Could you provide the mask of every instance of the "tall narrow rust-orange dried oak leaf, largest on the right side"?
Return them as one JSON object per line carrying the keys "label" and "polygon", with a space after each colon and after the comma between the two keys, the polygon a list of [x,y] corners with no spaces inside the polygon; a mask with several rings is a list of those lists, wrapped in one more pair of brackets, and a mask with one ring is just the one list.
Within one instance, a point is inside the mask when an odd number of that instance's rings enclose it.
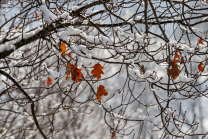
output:
{"label": "tall narrow rust-orange dried oak leaf, largest on the right side", "polygon": [[[179,76],[179,73],[181,72],[179,70],[179,66],[177,65],[178,61],[176,58],[180,59],[180,56],[178,55],[178,51],[175,51],[175,56],[172,62],[172,69],[170,71],[171,78],[176,79]],[[167,70],[167,75],[169,75],[169,70]]]}

